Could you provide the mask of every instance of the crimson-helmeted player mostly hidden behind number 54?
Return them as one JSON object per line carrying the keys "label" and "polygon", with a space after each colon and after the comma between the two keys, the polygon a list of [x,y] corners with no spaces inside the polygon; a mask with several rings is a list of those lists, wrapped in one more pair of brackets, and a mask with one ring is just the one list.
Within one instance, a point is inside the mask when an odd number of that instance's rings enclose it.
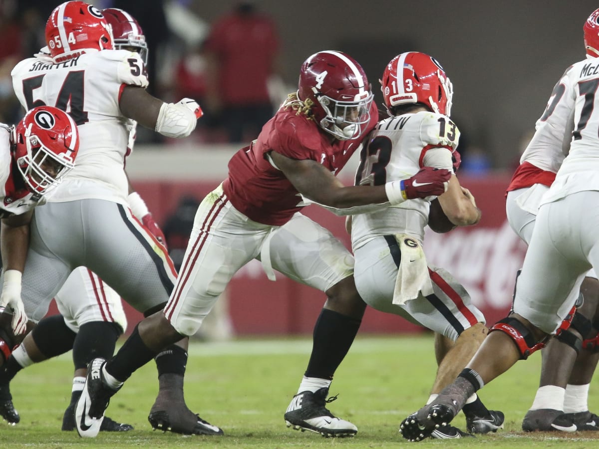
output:
{"label": "crimson-helmeted player mostly hidden behind number 54", "polygon": [[[102,14],[111,26],[114,47],[117,50],[136,51],[145,62],[146,39],[137,20],[126,11],[116,8],[102,10]],[[132,120],[130,127],[127,154],[131,153],[135,142],[136,126]],[[164,235],[145,202],[133,192],[131,186],[129,191],[128,203],[132,213],[164,244]],[[20,421],[12,401],[10,381],[21,369],[72,349],[75,372],[71,402],[63,415],[62,430],[75,430],[75,404],[83,390],[87,364],[94,356],[111,356],[117,339],[127,328],[120,296],[84,266],[72,271],[56,293],[55,301],[59,315],[40,320],[0,368],[0,415],[8,423]],[[104,431],[123,432],[131,429],[131,425],[118,423],[108,417],[102,421],[101,430]]]}

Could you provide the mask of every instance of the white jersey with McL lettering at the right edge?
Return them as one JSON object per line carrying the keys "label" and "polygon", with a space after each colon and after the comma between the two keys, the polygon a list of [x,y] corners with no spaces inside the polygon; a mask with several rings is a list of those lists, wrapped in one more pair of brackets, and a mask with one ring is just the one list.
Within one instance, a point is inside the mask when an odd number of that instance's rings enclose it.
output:
{"label": "white jersey with McL lettering at the right edge", "polygon": [[565,138],[570,139],[573,129],[570,151],[541,204],[572,193],[599,190],[599,58],[577,62],[560,83],[563,93],[559,104],[569,111]]}

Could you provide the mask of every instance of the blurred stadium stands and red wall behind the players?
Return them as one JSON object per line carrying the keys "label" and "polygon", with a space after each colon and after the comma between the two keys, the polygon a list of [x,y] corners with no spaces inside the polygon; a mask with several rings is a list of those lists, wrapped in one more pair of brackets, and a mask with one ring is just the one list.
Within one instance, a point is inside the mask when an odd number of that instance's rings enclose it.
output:
{"label": "blurred stadium stands and red wall behind the players", "polygon": [[[0,120],[11,122],[20,110],[10,85],[10,69],[39,48],[45,20],[55,0],[0,0]],[[365,68],[373,91],[395,54],[419,50],[436,57],[454,87],[452,118],[462,131],[461,183],[476,196],[483,219],[476,227],[446,235],[429,232],[426,251],[432,265],[458,278],[488,322],[509,309],[516,269],[525,247],[510,229],[504,189],[553,83],[582,59],[582,25],[596,2],[506,0],[480,2],[398,2],[365,4],[319,0],[98,0],[98,7],[122,7],[137,17],[149,40],[154,63],[152,91],[174,101],[205,79],[202,44],[211,26],[240,3],[251,3],[276,25],[279,53],[271,78],[271,101],[279,104],[295,90],[301,62],[315,51],[346,51]],[[159,26],[157,24],[162,24]],[[187,77],[181,77],[186,68]],[[186,85],[193,84],[194,85]],[[203,84],[202,84],[203,86]],[[185,89],[184,89],[185,88]],[[199,89],[199,90],[198,90]],[[200,99],[201,102],[201,99]],[[380,104],[380,103],[379,103]],[[207,104],[207,110],[210,107]],[[210,115],[210,114],[209,114]],[[218,114],[214,114],[217,116]],[[213,117],[214,118],[214,117]],[[203,120],[203,119],[202,119]],[[226,176],[226,163],[252,136],[229,143],[228,117],[200,125],[190,138],[158,139],[140,130],[127,162],[134,186],[164,226],[184,196],[201,200]],[[246,138],[247,137],[247,138]],[[470,163],[468,162],[470,160]],[[483,162],[479,163],[479,160]],[[341,172],[352,183],[355,161]],[[343,220],[312,206],[306,213],[329,227],[346,244]],[[325,297],[279,275],[268,281],[259,262],[250,263],[226,292],[235,335],[307,334]],[[128,308],[129,322],[138,315]],[[131,326],[130,326],[131,327]],[[419,332],[395,316],[369,310],[362,332]]]}

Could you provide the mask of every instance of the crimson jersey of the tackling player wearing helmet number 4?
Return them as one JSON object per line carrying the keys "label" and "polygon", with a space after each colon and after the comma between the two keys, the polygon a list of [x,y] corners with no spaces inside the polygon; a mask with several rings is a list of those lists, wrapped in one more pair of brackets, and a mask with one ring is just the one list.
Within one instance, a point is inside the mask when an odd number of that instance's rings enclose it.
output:
{"label": "crimson jersey of the tackling player wearing helmet number 4", "polygon": [[314,120],[298,115],[291,107],[281,107],[264,125],[258,139],[231,158],[223,190],[231,204],[249,219],[264,225],[284,225],[304,205],[293,184],[268,161],[268,152],[276,151],[291,159],[316,160],[337,175],[378,120],[373,102],[364,132],[354,139],[331,144],[330,135]]}

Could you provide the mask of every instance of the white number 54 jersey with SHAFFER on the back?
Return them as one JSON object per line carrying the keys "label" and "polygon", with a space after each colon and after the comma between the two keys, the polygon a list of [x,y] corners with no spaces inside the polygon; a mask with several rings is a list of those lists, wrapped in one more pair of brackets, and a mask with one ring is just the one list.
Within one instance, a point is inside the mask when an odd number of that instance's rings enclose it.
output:
{"label": "white number 54 jersey with SHAFFER on the back", "polygon": [[96,198],[126,204],[123,163],[131,120],[120,112],[119,98],[126,85],[147,86],[139,54],[102,50],[58,64],[38,56],[17,64],[11,75],[23,107],[56,106],[78,125],[77,165],[48,200]]}

